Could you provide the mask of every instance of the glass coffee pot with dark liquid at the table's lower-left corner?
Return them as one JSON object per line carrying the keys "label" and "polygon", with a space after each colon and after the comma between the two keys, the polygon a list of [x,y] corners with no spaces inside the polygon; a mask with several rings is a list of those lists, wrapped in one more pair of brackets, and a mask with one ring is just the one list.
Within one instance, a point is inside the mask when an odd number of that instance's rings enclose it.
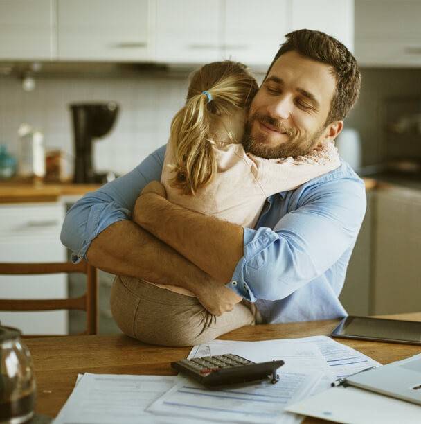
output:
{"label": "glass coffee pot with dark liquid at the table's lower-left corner", "polygon": [[0,326],[0,422],[28,421],[34,414],[35,392],[32,359],[20,331]]}

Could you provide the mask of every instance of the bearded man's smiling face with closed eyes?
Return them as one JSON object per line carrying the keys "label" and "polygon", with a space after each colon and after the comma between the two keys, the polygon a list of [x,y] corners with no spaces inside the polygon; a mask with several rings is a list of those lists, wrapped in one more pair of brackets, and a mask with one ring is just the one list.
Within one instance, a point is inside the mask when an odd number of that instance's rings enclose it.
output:
{"label": "bearded man's smiling face with closed eyes", "polygon": [[296,51],[281,55],[251,103],[245,150],[265,158],[310,152],[333,134],[324,124],[335,89],[328,64]]}

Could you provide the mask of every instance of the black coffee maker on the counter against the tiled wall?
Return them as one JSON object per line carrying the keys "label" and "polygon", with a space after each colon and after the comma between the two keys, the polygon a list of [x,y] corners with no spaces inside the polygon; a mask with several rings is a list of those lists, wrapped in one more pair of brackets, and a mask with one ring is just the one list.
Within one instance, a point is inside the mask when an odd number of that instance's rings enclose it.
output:
{"label": "black coffee maker on the counter against the tiled wall", "polygon": [[107,103],[74,103],[69,105],[73,117],[75,139],[75,176],[76,184],[104,183],[107,174],[98,174],[92,165],[92,144],[109,133],[118,115],[118,105]]}

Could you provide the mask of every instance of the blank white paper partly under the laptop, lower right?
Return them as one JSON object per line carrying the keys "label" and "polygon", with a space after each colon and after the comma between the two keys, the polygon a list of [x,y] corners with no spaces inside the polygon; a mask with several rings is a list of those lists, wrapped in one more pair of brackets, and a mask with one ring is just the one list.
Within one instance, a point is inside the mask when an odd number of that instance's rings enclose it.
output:
{"label": "blank white paper partly under the laptop, lower right", "polygon": [[421,423],[421,406],[356,387],[333,387],[285,409],[339,423]]}

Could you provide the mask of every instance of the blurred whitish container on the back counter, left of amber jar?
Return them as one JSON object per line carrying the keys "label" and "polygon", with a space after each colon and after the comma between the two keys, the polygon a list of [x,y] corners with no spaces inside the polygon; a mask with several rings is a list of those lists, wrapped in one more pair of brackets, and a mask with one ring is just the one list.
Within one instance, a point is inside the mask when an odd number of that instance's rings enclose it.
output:
{"label": "blurred whitish container on the back counter, left of amber jar", "polygon": [[22,124],[19,135],[18,175],[39,177],[45,175],[44,134],[27,124]]}

